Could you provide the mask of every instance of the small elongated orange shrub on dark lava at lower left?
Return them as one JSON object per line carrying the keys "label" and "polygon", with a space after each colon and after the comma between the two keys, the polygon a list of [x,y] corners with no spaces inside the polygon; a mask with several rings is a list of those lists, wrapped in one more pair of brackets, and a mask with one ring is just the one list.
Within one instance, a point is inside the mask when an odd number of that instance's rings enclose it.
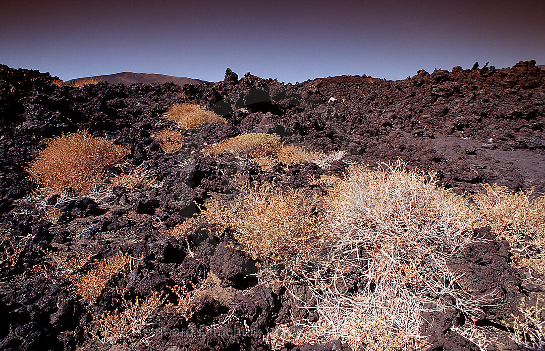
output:
{"label": "small elongated orange shrub on dark lava at lower left", "polygon": [[129,259],[127,255],[119,255],[100,262],[98,267],[86,274],[73,274],[71,280],[76,286],[76,294],[89,302],[96,301],[106,283],[125,267]]}

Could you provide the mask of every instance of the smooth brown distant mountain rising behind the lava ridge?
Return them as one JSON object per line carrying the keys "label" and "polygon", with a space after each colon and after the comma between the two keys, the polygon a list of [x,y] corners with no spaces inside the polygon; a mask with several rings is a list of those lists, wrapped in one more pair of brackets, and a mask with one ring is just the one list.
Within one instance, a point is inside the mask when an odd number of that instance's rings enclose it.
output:
{"label": "smooth brown distant mountain rising behind the lava ridge", "polygon": [[96,78],[103,81],[106,81],[110,84],[123,83],[125,85],[135,84],[135,83],[144,83],[144,84],[155,84],[155,83],[168,83],[173,82],[174,84],[183,85],[183,84],[201,84],[205,81],[200,79],[192,79],[187,77],[175,77],[167,76],[164,74],[153,74],[153,73],[134,73],[134,72],[120,72],[116,74],[108,74],[104,76],[93,76],[93,77],[84,77],[84,78],[74,78],[66,83],[72,83],[75,81],[86,80],[89,78]]}

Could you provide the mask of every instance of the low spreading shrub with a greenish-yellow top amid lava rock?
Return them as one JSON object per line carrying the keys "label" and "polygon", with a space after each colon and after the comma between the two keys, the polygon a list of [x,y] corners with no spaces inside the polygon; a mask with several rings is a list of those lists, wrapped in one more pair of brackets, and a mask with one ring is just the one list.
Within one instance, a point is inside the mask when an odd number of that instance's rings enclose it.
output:
{"label": "low spreading shrub with a greenish-yellow top amid lava rock", "polygon": [[293,165],[323,156],[321,153],[308,152],[301,147],[284,145],[280,141],[280,136],[265,133],[241,134],[228,138],[205,148],[202,153],[214,156],[232,153],[241,158],[254,160],[264,170],[270,170],[279,162]]}

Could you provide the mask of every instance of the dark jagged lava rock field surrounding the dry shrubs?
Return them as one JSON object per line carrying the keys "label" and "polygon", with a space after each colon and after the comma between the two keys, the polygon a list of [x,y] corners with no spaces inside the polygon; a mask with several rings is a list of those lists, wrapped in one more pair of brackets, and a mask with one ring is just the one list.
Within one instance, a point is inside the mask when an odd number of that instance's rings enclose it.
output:
{"label": "dark jagged lava rock field surrounding the dry shrubs", "polygon": [[[181,130],[181,149],[165,153],[154,135],[177,128],[164,116],[169,106],[184,102],[213,110],[227,123]],[[9,233],[6,251],[22,250],[0,268],[0,349],[268,350],[264,337],[300,313],[296,301],[280,287],[258,284],[256,261],[222,238],[199,229],[186,241],[169,229],[196,215],[208,199],[231,198],[237,181],[274,179],[305,189],[309,175],[341,175],[356,162],[373,168],[401,159],[409,168],[437,171],[438,183],[460,194],[482,191],[487,183],[544,193],[544,124],[545,71],[533,61],[505,69],[421,70],[401,81],[338,76],[282,84],[250,73],[239,78],[228,69],[225,80],[198,85],[81,88],[58,87],[49,74],[1,65],[0,230]],[[123,170],[112,172],[140,172],[150,181],[93,196],[35,199],[37,186],[26,167],[48,138],[78,130],[128,147]],[[347,155],[329,169],[303,162],[263,171],[229,154],[201,153],[250,132]],[[52,203],[59,217],[48,221]],[[125,271],[114,274],[94,302],[75,292],[73,280],[44,274],[52,257],[89,253],[99,262],[119,252],[129,257]],[[545,291],[509,259],[508,244],[489,237],[452,262],[476,291],[502,292],[505,303],[487,308],[478,323],[506,332],[511,329],[502,321],[517,313],[521,296]],[[123,308],[123,299],[167,292],[175,304],[180,296],[171,287],[191,285],[207,293],[191,306],[189,319],[161,307],[145,328],[114,346],[96,334],[97,316]],[[452,330],[462,317],[445,312],[433,318],[429,349],[479,349]],[[349,348],[332,340],[284,349]]]}

